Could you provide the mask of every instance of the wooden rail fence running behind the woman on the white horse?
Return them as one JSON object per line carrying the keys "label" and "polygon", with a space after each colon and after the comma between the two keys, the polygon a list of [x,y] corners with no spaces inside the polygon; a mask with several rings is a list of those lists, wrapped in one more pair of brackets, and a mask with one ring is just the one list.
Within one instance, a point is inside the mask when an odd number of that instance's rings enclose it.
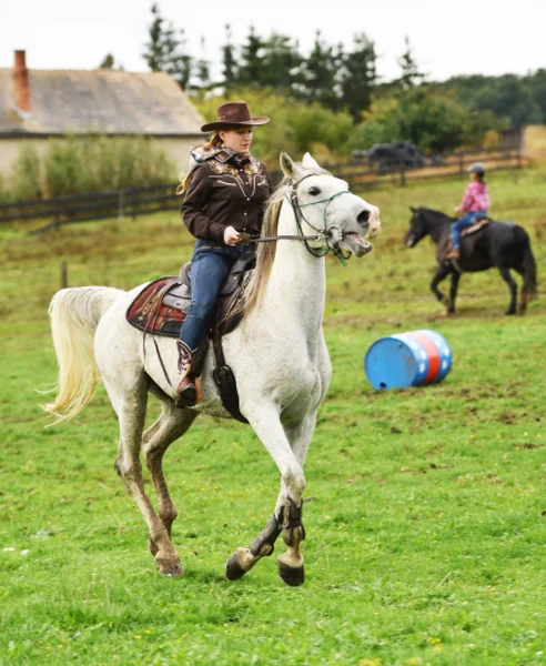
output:
{"label": "wooden rail fence running behind the woman on the white horse", "polygon": [[[325,165],[325,169],[357,190],[384,184],[404,186],[408,182],[423,179],[466,178],[466,169],[475,161],[484,162],[488,172],[501,169],[517,170],[527,163],[517,149],[488,149],[438,155],[419,167],[398,163],[385,169],[361,159]],[[281,172],[272,172],[270,175],[274,184],[282,178]],[[152,188],[130,188],[3,204],[0,205],[0,224],[43,220],[43,225],[30,232],[36,234],[64,224],[111,218],[136,219],[138,215],[178,210],[181,198],[175,195],[176,186],[178,183],[169,183]]]}

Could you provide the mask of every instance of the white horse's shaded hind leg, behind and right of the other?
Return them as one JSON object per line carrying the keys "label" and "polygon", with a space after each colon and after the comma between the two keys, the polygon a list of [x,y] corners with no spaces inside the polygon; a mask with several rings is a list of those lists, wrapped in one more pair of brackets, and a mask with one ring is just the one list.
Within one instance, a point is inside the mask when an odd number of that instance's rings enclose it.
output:
{"label": "white horse's shaded hind leg, behind and right of the other", "polygon": [[[196,416],[196,412],[179,408],[171,400],[164,400],[161,416],[142,437],[144,460],[158,493],[159,516],[170,538],[172,538],[172,524],[176,518],[176,508],[163,474],[163,456],[169,446],[186,432]],[[155,556],[159,548],[151,537],[149,547]]]}

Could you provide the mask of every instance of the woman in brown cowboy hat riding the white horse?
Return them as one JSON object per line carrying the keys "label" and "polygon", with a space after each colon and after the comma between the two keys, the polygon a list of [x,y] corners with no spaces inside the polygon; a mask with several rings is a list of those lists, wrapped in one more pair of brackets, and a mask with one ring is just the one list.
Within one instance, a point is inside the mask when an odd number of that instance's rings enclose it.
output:
{"label": "woman in brown cowboy hat riding the white horse", "polygon": [[[192,302],[178,341],[178,393],[186,405],[198,401],[192,374],[194,354],[208,329],[223,280],[246,246],[241,233],[260,234],[264,204],[271,193],[265,164],[251,155],[252,130],[266,124],[252,118],[244,100],[221,104],[216,121],[204,124],[213,132],[205,145],[191,150],[191,171],[182,219],[196,238],[191,268]],[[180,192],[179,192],[180,193]]]}

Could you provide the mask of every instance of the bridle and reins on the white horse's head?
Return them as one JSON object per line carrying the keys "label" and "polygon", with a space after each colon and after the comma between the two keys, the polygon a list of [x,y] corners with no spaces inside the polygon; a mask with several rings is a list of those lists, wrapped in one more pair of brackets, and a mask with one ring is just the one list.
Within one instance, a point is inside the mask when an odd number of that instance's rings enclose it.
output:
{"label": "bridle and reins on the white horse's head", "polygon": [[[243,241],[240,244],[247,243],[265,243],[270,241],[302,241],[305,245],[305,249],[313,256],[325,256],[328,252],[332,252],[334,256],[336,256],[343,265],[346,265],[346,261],[351,253],[343,253],[343,250],[340,248],[340,240],[342,240],[347,232],[342,232],[337,226],[327,225],[327,210],[331,202],[341,196],[341,194],[351,194],[348,190],[340,190],[340,192],[335,192],[332,196],[327,199],[320,199],[318,201],[312,201],[310,203],[300,203],[297,200],[297,188],[307,178],[312,175],[323,175],[323,173],[306,173],[301,179],[294,181],[290,186],[290,192],[286,194],[286,201],[292,205],[292,210],[294,211],[294,218],[297,228],[297,235],[276,235],[276,236],[266,236],[266,238],[251,238],[247,234],[243,235]],[[302,208],[306,208],[310,205],[316,205],[317,203],[325,203],[324,212],[323,212],[323,229],[317,229],[314,224],[312,224],[303,214]],[[313,231],[316,231],[316,234],[305,235],[303,233],[302,221],[305,222]],[[340,232],[340,240],[335,241],[333,239],[333,230],[336,229]],[[310,241],[326,241],[326,248],[312,248],[309,243]]]}

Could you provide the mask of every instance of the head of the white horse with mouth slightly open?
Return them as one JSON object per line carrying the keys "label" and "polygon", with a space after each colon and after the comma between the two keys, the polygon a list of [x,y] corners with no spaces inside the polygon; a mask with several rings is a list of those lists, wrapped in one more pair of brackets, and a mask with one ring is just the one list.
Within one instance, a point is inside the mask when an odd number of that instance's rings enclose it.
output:
{"label": "head of the white horse with mouth slightly open", "polygon": [[320,233],[314,248],[348,251],[355,256],[367,254],[373,245],[364,236],[380,233],[380,209],[348,190],[345,181],[333,176],[305,153],[296,164],[281,153],[281,169],[292,181],[289,196],[303,233]]}

